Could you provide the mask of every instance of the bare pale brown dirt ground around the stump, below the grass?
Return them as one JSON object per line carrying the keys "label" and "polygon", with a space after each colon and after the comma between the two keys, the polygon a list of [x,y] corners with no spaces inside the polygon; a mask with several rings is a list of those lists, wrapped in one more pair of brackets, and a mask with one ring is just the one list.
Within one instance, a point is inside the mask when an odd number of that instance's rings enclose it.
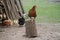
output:
{"label": "bare pale brown dirt ground around the stump, below the grass", "polygon": [[38,37],[25,37],[25,27],[19,25],[0,28],[0,40],[60,40],[60,23],[37,23]]}

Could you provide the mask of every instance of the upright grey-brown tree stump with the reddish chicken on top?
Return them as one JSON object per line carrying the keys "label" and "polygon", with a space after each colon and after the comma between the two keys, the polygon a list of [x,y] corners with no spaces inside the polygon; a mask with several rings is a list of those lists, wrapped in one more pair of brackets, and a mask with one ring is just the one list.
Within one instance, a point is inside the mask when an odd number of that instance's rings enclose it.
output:
{"label": "upright grey-brown tree stump with the reddish chicken on top", "polygon": [[26,36],[27,37],[36,37],[37,36],[35,19],[27,20],[25,22],[25,27],[26,27]]}

